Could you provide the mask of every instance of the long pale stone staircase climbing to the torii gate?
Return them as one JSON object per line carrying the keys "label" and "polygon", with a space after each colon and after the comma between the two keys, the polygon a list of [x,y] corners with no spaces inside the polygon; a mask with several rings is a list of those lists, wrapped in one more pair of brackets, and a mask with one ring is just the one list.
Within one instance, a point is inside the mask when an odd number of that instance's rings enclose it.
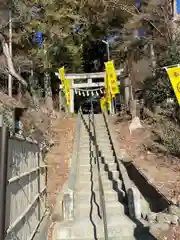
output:
{"label": "long pale stone staircase climbing to the torii gate", "polygon": [[[100,174],[104,188],[108,239],[155,239],[127,213],[127,199],[103,115],[95,115]],[[74,194],[74,218],[56,224],[54,240],[105,239],[100,204],[95,146],[89,133],[89,116],[81,120]],[[93,129],[91,127],[91,132]],[[141,224],[140,224],[141,225]]]}

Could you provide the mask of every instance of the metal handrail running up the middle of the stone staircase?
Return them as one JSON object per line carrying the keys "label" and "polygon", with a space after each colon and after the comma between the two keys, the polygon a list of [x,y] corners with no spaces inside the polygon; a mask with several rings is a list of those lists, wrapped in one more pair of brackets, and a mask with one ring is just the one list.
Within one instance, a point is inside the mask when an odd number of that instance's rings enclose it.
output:
{"label": "metal handrail running up the middle of the stone staircase", "polygon": [[105,204],[105,196],[104,196],[104,188],[101,178],[101,170],[100,170],[100,163],[99,163],[99,149],[97,145],[97,137],[96,137],[96,128],[94,124],[94,111],[93,111],[93,104],[91,101],[91,113],[92,113],[92,126],[93,126],[93,135],[94,135],[94,146],[95,146],[95,158],[98,168],[98,183],[99,183],[99,196],[100,196],[100,205],[103,217],[103,226],[104,226],[104,239],[108,240],[108,227],[107,227],[107,217],[106,217],[106,204]]}

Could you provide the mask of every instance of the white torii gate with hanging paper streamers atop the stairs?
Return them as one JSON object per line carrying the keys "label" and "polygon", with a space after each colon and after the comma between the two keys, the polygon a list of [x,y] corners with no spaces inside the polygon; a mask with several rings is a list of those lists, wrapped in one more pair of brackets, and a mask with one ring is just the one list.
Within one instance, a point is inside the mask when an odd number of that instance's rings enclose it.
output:
{"label": "white torii gate with hanging paper streamers atop the stairs", "polygon": [[[116,70],[116,75],[120,76],[122,72],[123,72],[123,69]],[[58,72],[56,72],[55,75],[60,78]],[[71,83],[70,83],[70,112],[71,113],[74,113],[75,89],[103,87],[104,77],[105,77],[105,72],[65,74],[65,78],[71,80]],[[93,79],[98,79],[98,78],[103,79],[103,81],[93,82]],[[120,81],[118,81],[118,85],[120,85]],[[62,85],[60,85],[60,89],[62,89]]]}

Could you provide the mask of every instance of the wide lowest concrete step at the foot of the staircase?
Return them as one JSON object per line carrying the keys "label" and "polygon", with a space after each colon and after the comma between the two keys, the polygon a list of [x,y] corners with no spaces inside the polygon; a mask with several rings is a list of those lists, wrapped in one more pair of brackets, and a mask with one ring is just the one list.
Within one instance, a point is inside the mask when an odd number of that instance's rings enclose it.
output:
{"label": "wide lowest concrete step at the foot of the staircase", "polygon": [[[125,216],[111,216],[107,219],[108,237],[118,237],[119,240],[133,238],[135,224]],[[99,220],[96,226],[96,237],[94,227],[89,218],[76,219],[69,223],[57,223],[54,228],[54,239],[104,239],[103,221]]]}

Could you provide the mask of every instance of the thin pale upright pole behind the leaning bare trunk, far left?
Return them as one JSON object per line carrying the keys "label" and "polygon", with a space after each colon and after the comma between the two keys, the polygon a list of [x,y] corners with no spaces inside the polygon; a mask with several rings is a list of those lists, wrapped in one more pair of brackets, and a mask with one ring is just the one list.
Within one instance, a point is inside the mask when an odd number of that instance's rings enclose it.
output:
{"label": "thin pale upright pole behind the leaning bare trunk, far left", "polygon": [[[9,7],[9,54],[12,58],[12,9]],[[12,97],[12,76],[8,75],[8,95]]]}

